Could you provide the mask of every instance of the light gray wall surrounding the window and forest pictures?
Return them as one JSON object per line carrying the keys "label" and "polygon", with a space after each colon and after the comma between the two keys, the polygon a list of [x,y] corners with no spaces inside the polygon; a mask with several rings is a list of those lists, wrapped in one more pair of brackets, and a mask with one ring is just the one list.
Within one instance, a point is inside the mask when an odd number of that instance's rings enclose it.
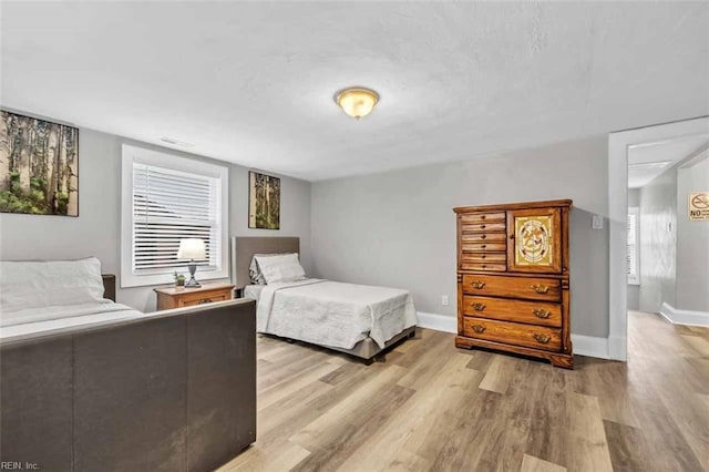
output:
{"label": "light gray wall surrounding the window and forest pictures", "polygon": [[[79,217],[0,214],[0,258],[70,259],[96,256],[103,271],[120,276],[121,144],[132,143],[92,130],[79,134]],[[280,230],[248,229],[248,168],[172,150],[176,155],[229,167],[230,236],[299,236],[306,270],[312,269],[310,183],[281,177]],[[238,152],[238,150],[235,150]],[[226,247],[225,247],[226,249]],[[119,281],[120,286],[120,281]],[[152,287],[117,290],[117,301],[155,309]]]}

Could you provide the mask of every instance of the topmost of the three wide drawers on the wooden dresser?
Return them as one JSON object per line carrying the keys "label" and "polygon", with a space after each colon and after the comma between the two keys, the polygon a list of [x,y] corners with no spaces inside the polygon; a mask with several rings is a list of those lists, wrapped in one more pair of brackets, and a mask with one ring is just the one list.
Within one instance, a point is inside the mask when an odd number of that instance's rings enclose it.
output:
{"label": "topmost of the three wide drawers on the wooden dresser", "polygon": [[559,301],[562,281],[542,277],[463,275],[463,294]]}

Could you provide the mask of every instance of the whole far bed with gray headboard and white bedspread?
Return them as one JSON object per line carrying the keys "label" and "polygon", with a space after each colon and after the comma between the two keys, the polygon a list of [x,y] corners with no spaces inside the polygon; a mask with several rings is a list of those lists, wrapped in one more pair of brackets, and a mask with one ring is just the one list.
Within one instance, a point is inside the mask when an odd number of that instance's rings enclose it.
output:
{"label": "whole far bed with gray headboard and white bedspread", "polygon": [[[235,237],[233,278],[257,300],[257,331],[346,352],[371,362],[415,336],[417,311],[408,290],[299,277],[253,283],[254,258],[299,254],[297,237]],[[261,260],[261,264],[264,259]],[[249,269],[251,269],[249,274]]]}

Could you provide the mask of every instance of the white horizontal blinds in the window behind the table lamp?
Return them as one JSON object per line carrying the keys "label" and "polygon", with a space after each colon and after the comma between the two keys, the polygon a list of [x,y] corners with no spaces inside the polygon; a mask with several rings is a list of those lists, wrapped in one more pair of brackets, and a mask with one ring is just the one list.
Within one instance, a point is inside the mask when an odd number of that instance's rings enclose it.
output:
{"label": "white horizontal blinds in the window behind the table lamp", "polygon": [[218,179],[147,164],[133,164],[133,271],[162,274],[182,268],[179,240],[205,242],[198,265],[217,269],[222,242]]}

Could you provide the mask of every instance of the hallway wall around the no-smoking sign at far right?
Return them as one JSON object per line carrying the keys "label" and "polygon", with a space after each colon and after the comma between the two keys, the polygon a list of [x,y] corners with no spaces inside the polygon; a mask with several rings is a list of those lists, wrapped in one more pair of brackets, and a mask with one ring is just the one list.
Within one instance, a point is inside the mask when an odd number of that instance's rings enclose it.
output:
{"label": "hallway wall around the no-smoking sign at far right", "polygon": [[709,158],[677,171],[675,308],[709,312],[709,222],[689,220],[688,196],[709,192]]}

